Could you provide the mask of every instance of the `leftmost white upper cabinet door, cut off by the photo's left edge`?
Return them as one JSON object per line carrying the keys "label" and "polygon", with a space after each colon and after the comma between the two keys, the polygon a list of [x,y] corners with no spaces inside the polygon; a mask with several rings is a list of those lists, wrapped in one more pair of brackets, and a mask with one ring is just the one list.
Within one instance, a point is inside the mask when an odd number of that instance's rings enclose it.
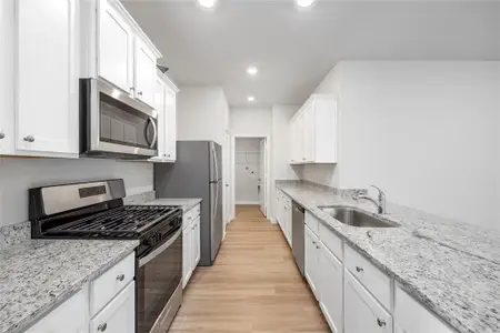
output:
{"label": "leftmost white upper cabinet door, cut off by the photo's left edge", "polygon": [[0,1],[0,154],[14,151],[14,0]]}

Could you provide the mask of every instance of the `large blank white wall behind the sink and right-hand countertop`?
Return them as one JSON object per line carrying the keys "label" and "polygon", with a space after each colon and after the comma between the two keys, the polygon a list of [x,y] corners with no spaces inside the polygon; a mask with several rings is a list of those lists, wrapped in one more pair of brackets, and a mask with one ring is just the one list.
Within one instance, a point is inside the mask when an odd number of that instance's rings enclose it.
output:
{"label": "large blank white wall behind the sink and right-hand countertop", "polygon": [[302,176],[500,228],[499,91],[500,62],[341,62],[317,89],[338,98],[339,164]]}

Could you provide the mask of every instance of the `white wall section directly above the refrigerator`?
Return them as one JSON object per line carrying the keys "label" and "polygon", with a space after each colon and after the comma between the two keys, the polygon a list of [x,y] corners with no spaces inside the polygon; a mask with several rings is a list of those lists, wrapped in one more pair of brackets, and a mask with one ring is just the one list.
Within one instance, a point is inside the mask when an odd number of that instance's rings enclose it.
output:
{"label": "white wall section directly above the refrigerator", "polygon": [[177,97],[178,140],[224,144],[229,109],[220,87],[181,87]]}

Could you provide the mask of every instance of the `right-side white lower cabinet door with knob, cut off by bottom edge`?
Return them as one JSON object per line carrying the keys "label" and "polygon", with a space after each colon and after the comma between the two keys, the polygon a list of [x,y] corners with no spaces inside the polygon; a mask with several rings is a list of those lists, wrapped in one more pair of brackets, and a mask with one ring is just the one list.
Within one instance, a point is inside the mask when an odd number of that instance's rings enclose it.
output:
{"label": "right-side white lower cabinet door with knob, cut off by bottom edge", "polygon": [[344,276],[344,333],[391,333],[391,315],[347,270]]}

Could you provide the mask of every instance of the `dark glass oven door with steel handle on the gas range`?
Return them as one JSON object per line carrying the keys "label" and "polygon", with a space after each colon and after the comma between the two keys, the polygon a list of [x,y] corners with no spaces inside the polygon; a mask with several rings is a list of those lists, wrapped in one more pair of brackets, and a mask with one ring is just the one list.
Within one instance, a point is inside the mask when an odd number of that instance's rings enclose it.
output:
{"label": "dark glass oven door with steel handle on the gas range", "polygon": [[138,333],[167,332],[182,301],[182,228],[139,258]]}

